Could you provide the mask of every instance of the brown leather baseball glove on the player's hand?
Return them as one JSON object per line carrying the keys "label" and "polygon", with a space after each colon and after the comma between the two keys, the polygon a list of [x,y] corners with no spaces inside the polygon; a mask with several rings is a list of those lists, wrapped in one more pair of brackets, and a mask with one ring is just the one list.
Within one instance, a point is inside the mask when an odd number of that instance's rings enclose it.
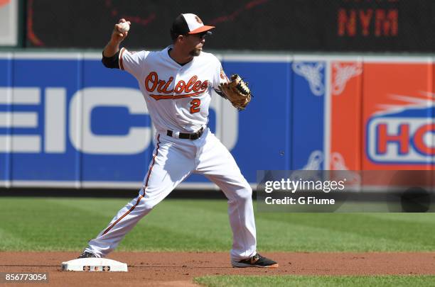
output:
{"label": "brown leather baseball glove on the player's hand", "polygon": [[251,101],[251,90],[247,83],[238,74],[232,74],[229,83],[220,84],[222,96],[232,103],[239,111],[245,110]]}

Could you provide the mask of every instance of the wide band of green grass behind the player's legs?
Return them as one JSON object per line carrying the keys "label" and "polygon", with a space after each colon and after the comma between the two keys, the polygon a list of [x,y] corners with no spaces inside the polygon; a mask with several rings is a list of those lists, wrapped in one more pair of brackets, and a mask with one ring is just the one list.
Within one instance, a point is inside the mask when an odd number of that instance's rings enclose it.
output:
{"label": "wide band of green grass behind the player's legs", "polygon": [[[80,251],[129,200],[0,197],[0,251]],[[405,252],[435,249],[435,213],[256,213],[262,252]],[[119,251],[223,251],[226,201],[166,200]]]}

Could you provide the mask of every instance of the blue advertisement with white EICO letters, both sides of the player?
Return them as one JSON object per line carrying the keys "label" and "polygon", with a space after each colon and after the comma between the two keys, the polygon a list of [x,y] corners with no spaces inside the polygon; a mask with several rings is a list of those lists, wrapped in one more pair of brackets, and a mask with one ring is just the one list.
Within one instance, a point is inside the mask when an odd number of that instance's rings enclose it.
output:
{"label": "blue advertisement with white EICO letters, both sides of the player", "polygon": [[[249,182],[256,180],[257,169],[291,169],[290,62],[222,64],[227,74],[237,72],[251,83],[254,99],[238,112],[215,94],[210,129]],[[98,55],[80,53],[16,55],[12,66],[1,64],[9,76],[2,77],[1,87],[11,89],[14,98],[2,108],[11,109],[16,120],[7,137],[11,151],[0,153],[2,178],[16,185],[140,187],[154,151],[154,132],[134,77],[104,68]],[[5,138],[9,133],[7,128],[1,132]],[[193,175],[186,182],[209,181]]]}

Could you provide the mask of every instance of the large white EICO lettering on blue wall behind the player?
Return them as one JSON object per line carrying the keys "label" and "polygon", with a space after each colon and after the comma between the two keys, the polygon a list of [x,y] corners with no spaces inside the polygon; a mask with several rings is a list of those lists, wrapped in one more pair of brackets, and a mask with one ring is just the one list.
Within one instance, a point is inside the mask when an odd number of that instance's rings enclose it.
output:
{"label": "large white EICO lettering on blue wall behind the player", "polygon": [[[65,88],[48,87],[43,91],[44,101],[38,87],[0,88],[0,105],[14,106],[0,112],[0,152],[63,154],[69,140],[75,150],[88,154],[137,154],[151,144],[153,135],[149,126],[128,126],[124,135],[92,132],[92,111],[97,107],[123,107],[130,115],[148,114],[138,89],[85,88],[76,91],[69,101]],[[227,101],[222,105],[220,97],[213,98],[210,108],[215,110],[216,135],[231,150],[237,141],[237,110]],[[41,108],[19,111],[20,107],[38,107],[41,103],[42,111]],[[43,124],[38,118],[43,119]],[[8,128],[14,128],[14,134]],[[16,133],[20,129],[32,132]]]}

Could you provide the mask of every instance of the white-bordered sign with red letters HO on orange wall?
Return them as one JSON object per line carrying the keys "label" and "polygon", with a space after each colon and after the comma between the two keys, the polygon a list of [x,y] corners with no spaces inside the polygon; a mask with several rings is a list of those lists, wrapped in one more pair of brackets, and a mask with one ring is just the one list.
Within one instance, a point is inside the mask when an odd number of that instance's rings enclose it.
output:
{"label": "white-bordered sign with red letters HO on orange wall", "polygon": [[375,118],[367,132],[368,154],[375,161],[424,164],[435,157],[431,118]]}

